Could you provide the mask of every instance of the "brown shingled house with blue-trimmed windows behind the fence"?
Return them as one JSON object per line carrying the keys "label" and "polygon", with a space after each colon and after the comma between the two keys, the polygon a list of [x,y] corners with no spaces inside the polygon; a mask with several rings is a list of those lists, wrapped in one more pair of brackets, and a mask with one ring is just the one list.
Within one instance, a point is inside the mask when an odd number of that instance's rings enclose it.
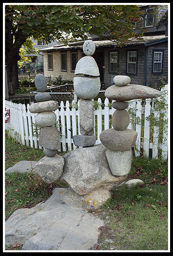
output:
{"label": "brown shingled house with blue-trimmed windows behind the fence", "polygon": [[[145,13],[148,7],[141,6]],[[146,12],[139,26],[146,28],[142,41],[131,40],[120,48],[110,40],[99,40],[88,36],[96,44],[93,57],[98,64],[100,79],[105,88],[113,84],[117,74],[131,77],[131,83],[153,86],[159,78],[168,77],[168,11],[155,17]],[[63,76],[63,80],[73,80],[75,66],[84,57],[84,41],[56,45],[41,49],[43,52],[44,76]]]}

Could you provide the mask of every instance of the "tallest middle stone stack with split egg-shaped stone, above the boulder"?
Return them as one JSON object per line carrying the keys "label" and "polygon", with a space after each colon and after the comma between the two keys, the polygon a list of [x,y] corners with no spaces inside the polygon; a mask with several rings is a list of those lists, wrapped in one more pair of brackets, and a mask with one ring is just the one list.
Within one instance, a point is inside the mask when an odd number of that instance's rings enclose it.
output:
{"label": "tallest middle stone stack with split egg-shaped stone, above the boulder", "polygon": [[94,54],[96,46],[93,41],[86,40],[83,45],[85,57],[77,62],[74,78],[74,90],[81,99],[79,106],[80,133],[73,136],[75,146],[89,147],[96,142],[94,135],[94,99],[101,88],[100,73],[96,61],[91,55]]}

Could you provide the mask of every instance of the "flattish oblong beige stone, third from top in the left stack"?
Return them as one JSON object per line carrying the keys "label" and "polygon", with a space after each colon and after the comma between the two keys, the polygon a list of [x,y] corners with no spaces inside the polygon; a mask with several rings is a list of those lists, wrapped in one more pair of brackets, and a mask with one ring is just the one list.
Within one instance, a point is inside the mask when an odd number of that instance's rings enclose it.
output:
{"label": "flattish oblong beige stone, third from top in the left stack", "polygon": [[44,102],[37,102],[31,104],[29,106],[29,111],[31,113],[40,113],[45,111],[55,111],[58,109],[58,102],[54,100],[44,101]]}

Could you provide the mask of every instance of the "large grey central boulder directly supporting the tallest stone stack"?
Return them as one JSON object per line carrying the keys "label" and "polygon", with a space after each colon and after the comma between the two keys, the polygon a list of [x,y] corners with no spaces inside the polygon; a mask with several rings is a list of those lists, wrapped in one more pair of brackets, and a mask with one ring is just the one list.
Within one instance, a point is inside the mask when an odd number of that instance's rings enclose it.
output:
{"label": "large grey central boulder directly supporting the tallest stone stack", "polygon": [[68,184],[79,195],[88,195],[93,190],[111,190],[126,179],[126,175],[112,175],[105,151],[98,144],[93,147],[75,149],[66,153],[61,180]]}

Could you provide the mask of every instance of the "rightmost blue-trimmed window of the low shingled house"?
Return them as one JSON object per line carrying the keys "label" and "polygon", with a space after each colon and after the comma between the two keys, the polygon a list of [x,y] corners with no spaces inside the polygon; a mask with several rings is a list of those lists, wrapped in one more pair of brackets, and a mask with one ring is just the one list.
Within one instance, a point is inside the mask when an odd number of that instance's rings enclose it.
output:
{"label": "rightmost blue-trimmed window of the low shingled house", "polygon": [[152,52],[152,73],[163,73],[164,50],[154,50]]}

